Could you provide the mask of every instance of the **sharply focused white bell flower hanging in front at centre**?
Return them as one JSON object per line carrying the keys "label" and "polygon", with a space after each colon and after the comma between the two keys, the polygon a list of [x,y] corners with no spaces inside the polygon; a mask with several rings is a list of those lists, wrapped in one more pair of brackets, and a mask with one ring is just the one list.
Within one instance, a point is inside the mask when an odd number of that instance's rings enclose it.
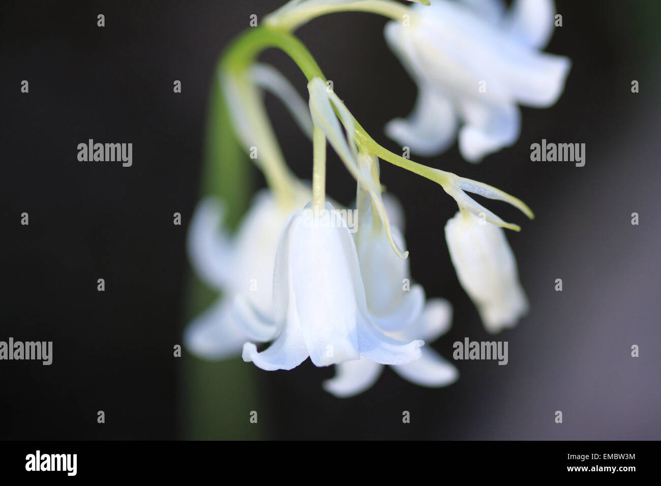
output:
{"label": "sharply focused white bell flower hanging in front at centre", "polygon": [[397,341],[381,332],[368,311],[356,245],[330,202],[308,204],[290,216],[273,276],[278,338],[258,352],[246,343],[243,359],[264,370],[291,370],[308,356],[328,366],[364,356],[381,364],[420,358],[420,339]]}

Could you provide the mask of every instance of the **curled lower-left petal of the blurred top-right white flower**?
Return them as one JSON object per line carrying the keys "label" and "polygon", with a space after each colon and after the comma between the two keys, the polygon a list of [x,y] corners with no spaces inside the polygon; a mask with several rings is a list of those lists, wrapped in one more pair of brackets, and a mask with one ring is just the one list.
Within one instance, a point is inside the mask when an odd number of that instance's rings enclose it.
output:
{"label": "curled lower-left petal of the blurred top-right white flower", "polygon": [[440,90],[423,84],[408,118],[395,118],[385,126],[386,136],[424,156],[446,150],[456,133],[457,114],[451,101]]}

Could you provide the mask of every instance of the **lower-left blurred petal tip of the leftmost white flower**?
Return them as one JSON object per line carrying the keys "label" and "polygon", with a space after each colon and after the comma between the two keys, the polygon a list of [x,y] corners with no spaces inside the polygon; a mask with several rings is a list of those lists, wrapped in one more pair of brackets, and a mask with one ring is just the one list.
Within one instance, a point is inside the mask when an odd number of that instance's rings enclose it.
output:
{"label": "lower-left blurred petal tip of the leftmost white flower", "polygon": [[233,323],[231,301],[219,298],[212,307],[193,319],[184,331],[184,346],[208,360],[238,356],[247,337]]}

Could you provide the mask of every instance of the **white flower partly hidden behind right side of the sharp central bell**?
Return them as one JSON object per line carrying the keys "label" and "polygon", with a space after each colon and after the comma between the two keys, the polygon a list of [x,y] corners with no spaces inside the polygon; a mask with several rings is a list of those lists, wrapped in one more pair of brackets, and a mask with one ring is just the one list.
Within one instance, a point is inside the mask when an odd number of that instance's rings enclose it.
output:
{"label": "white flower partly hidden behind right side of the sharp central bell", "polygon": [[[397,206],[391,208],[389,204],[393,199],[383,200],[387,202],[387,212],[397,214]],[[369,204],[364,204],[363,209],[358,220],[356,245],[368,309],[375,322],[394,339],[418,338],[426,343],[436,340],[449,329],[451,305],[442,299],[425,303],[422,286],[410,285],[408,259],[401,259],[392,251],[380,221],[371,222]],[[404,238],[394,224],[397,219],[391,218],[391,231],[403,245]],[[419,360],[393,366],[393,370],[410,382],[429,387],[449,385],[457,380],[457,369],[433,348],[427,345],[421,351]],[[336,375],[324,383],[324,388],[337,397],[350,397],[373,385],[382,370],[380,364],[365,358],[345,361],[336,365]]]}

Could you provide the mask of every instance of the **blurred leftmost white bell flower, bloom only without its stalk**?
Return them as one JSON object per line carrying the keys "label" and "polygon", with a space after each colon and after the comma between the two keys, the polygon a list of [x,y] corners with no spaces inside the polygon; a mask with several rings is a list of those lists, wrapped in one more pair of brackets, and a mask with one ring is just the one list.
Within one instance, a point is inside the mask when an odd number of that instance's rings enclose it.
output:
{"label": "blurred leftmost white bell flower, bloom only without its stalk", "polygon": [[[296,194],[299,204],[309,198],[303,188]],[[200,202],[188,229],[188,255],[196,274],[221,296],[186,328],[188,350],[202,358],[228,358],[240,354],[246,341],[275,337],[276,327],[269,317],[273,315],[273,265],[289,214],[288,207],[262,190],[232,236],[220,225],[221,204],[215,198]],[[238,327],[237,320],[251,325]]]}

